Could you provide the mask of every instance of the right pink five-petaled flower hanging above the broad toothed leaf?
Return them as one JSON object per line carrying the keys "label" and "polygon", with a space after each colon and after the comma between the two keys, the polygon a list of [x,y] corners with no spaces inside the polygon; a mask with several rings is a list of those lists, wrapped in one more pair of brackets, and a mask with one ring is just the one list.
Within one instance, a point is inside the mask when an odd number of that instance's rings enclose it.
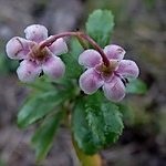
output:
{"label": "right pink five-petaled flower hanging above the broad toothed leaf", "polygon": [[139,70],[134,61],[123,60],[125,51],[118,45],[105,46],[104,53],[110,60],[107,68],[95,50],[86,50],[80,55],[79,63],[87,69],[80,76],[80,87],[84,93],[93,94],[102,86],[107,100],[118,102],[125,96],[127,79],[136,79]]}

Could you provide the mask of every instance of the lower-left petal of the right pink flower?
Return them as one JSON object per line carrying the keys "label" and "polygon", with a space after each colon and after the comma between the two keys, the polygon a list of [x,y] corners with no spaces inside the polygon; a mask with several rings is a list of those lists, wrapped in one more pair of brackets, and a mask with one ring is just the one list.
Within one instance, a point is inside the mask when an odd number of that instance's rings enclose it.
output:
{"label": "lower-left petal of the right pink flower", "polygon": [[94,69],[89,69],[80,76],[79,83],[84,93],[93,94],[103,85],[104,81]]}

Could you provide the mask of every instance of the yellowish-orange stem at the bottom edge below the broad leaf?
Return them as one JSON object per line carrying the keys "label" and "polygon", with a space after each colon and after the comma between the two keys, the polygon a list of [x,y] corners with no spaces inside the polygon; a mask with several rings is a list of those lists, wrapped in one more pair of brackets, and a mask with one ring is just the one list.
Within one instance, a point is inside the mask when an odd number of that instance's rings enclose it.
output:
{"label": "yellowish-orange stem at the bottom edge below the broad leaf", "polygon": [[74,149],[76,152],[76,155],[81,162],[82,166],[102,166],[102,158],[98,154],[95,155],[85,155],[75,143],[74,139],[72,139]]}

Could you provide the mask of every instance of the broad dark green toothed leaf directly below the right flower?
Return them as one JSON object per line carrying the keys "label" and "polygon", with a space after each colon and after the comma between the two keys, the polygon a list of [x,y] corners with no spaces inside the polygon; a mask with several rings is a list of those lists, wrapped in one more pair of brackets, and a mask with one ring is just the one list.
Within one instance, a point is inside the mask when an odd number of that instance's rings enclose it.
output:
{"label": "broad dark green toothed leaf directly below the right flower", "polygon": [[[72,116],[72,129],[77,146],[92,155],[115,143],[123,131],[122,114],[111,102],[97,102],[96,96],[81,100],[75,105]],[[89,102],[92,101],[93,103]]]}

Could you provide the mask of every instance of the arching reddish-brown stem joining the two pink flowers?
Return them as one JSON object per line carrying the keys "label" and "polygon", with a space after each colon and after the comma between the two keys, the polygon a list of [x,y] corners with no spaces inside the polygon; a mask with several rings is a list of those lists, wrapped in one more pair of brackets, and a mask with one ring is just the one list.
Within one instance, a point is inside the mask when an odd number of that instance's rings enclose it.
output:
{"label": "arching reddish-brown stem joining the two pink flowers", "polygon": [[[103,62],[106,66],[110,66],[110,61],[106,58],[103,49],[87,34],[83,33],[83,32],[63,32],[63,33],[59,33],[56,35],[52,35],[49,39],[46,39],[45,41],[40,43],[40,49],[43,49],[44,46],[50,46],[55,40],[58,40],[59,38],[63,38],[63,37],[71,37],[74,35],[79,39],[79,41],[81,41],[81,39],[86,40],[87,42],[90,42],[93,48],[95,50],[98,51],[98,53],[101,54]],[[83,44],[83,42],[81,42],[81,44]],[[85,46],[85,45],[84,45]]]}

